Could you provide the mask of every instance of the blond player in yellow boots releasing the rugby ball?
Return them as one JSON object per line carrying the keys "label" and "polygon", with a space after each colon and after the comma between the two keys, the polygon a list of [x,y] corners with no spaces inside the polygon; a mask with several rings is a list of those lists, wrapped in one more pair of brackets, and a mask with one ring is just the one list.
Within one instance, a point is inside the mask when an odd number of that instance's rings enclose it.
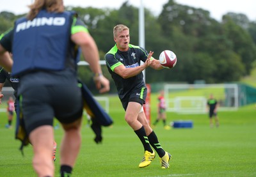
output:
{"label": "blond player in yellow boots releasing the rugby ball", "polygon": [[[125,109],[125,121],[138,135],[145,150],[139,167],[147,167],[155,158],[156,150],[161,160],[161,167],[169,167],[170,153],[163,150],[156,134],[148,124],[142,105],[145,103],[147,88],[142,71],[151,66],[155,70],[163,69],[158,60],[152,58],[153,52],[131,45],[129,28],[122,24],[113,29],[116,45],[106,54],[106,64],[115,81],[118,96]],[[144,61],[140,65],[140,61]],[[151,145],[151,146],[150,146]]]}

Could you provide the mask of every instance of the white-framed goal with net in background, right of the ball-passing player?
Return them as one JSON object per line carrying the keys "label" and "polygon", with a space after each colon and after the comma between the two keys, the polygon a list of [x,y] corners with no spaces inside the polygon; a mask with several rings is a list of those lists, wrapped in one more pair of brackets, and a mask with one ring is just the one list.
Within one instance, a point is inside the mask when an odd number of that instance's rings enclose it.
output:
{"label": "white-framed goal with net in background, right of the ball-passing player", "polygon": [[166,111],[184,114],[207,112],[207,99],[214,95],[220,111],[239,107],[237,84],[165,84]]}

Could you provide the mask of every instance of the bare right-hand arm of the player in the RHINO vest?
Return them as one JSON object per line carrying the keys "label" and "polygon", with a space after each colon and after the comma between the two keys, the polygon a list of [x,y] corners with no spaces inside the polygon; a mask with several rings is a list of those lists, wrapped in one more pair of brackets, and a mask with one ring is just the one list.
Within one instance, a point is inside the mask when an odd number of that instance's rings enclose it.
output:
{"label": "bare right-hand arm of the player in the RHINO vest", "polygon": [[94,81],[97,89],[100,93],[109,91],[109,81],[102,75],[99,51],[92,36],[89,33],[79,32],[72,35],[71,40],[81,47],[84,59],[89,63],[92,72],[95,73]]}

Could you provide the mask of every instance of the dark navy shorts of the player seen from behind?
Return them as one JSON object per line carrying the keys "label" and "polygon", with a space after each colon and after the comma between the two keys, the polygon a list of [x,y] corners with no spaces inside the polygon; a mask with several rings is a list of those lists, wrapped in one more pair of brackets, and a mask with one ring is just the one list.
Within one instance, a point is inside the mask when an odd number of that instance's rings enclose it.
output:
{"label": "dark navy shorts of the player seen from behind", "polygon": [[81,88],[77,84],[23,86],[20,99],[28,134],[42,125],[52,125],[53,118],[72,123],[83,114]]}

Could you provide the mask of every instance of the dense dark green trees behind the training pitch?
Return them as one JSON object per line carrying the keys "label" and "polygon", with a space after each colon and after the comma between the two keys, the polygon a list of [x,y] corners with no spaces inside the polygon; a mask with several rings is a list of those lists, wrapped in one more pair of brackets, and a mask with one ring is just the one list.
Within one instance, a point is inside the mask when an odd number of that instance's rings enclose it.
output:
{"label": "dense dark green trees behind the training pitch", "polygon": [[[130,28],[131,43],[139,43],[139,10],[129,1],[119,9],[81,8],[74,10],[88,27],[104,60],[106,52],[115,45],[113,27],[125,24]],[[0,33],[13,26],[15,19],[23,16],[11,12],[0,13]],[[145,8],[145,49],[154,51],[158,59],[163,50],[177,55],[177,65],[171,70],[147,68],[146,82],[186,82],[203,80],[206,83],[239,81],[250,75],[256,64],[256,19],[228,12],[221,22],[212,19],[209,11],[178,4],[169,0],[159,15]],[[102,66],[111,81],[106,66]],[[79,66],[81,79],[94,89],[92,73],[86,66]],[[111,81],[112,91],[115,92]]]}

